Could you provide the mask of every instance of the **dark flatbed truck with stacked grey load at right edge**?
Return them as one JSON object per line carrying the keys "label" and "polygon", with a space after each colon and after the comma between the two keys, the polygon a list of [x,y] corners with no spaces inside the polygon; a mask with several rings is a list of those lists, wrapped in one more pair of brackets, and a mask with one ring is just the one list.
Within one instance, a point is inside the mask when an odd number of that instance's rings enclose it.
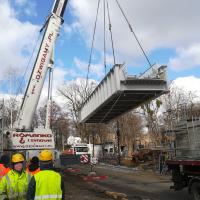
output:
{"label": "dark flatbed truck with stacked grey load at right edge", "polygon": [[171,189],[188,189],[193,200],[200,200],[200,117],[178,122],[174,129],[175,156],[166,161],[172,172]]}

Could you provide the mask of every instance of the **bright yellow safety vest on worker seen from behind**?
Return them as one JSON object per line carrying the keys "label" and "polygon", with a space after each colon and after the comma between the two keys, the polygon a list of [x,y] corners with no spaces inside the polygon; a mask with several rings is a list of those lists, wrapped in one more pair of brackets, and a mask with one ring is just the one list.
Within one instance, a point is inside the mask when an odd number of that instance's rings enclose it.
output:
{"label": "bright yellow safety vest on worker seen from behind", "polygon": [[35,199],[62,199],[61,176],[53,170],[43,170],[34,175],[36,182]]}

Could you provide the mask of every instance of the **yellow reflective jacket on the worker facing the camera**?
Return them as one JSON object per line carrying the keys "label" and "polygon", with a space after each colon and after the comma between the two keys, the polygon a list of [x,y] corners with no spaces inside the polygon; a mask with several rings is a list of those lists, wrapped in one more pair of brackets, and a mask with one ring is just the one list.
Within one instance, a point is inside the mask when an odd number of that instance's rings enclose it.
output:
{"label": "yellow reflective jacket on the worker facing the camera", "polygon": [[31,175],[10,170],[0,182],[0,199],[25,200]]}

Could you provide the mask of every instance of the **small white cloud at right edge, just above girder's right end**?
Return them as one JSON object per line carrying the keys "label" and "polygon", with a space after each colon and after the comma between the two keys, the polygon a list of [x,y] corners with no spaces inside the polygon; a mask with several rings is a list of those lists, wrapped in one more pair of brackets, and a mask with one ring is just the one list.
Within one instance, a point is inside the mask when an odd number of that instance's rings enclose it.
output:
{"label": "small white cloud at right edge, just above girder's right end", "polygon": [[177,49],[177,56],[169,60],[169,67],[180,71],[200,65],[200,43],[188,48]]}

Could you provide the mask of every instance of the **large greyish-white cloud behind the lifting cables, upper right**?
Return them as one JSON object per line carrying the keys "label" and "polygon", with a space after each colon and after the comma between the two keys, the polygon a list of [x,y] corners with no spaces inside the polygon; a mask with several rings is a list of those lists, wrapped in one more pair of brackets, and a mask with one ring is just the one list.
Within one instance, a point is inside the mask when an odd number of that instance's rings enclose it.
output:
{"label": "large greyish-white cloud behind the lifting cables, upper right", "polygon": [[[192,0],[190,3],[188,0],[120,0],[119,2],[147,54],[159,48],[180,49],[200,43],[199,0]],[[115,0],[109,3],[116,60],[118,63],[125,61],[127,64],[136,64],[137,60],[144,59],[141,50]],[[90,47],[97,1],[74,0],[71,1],[71,7],[77,19],[77,30]],[[95,38],[95,48],[100,51],[103,49],[102,8],[101,3]],[[106,24],[108,27],[108,21]],[[107,34],[107,45],[111,50],[109,43],[110,36]],[[192,63],[189,64],[189,67],[193,67]]]}

